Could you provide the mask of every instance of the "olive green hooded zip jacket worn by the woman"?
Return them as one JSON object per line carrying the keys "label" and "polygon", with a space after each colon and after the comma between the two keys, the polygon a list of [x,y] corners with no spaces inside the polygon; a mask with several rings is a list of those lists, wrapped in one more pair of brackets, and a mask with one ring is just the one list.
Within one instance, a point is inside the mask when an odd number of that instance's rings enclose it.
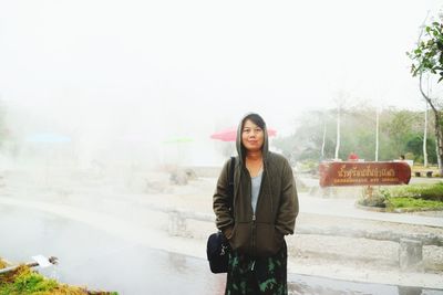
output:
{"label": "olive green hooded zip jacket worn by the woman", "polygon": [[[237,136],[238,137],[238,136]],[[230,160],[222,169],[214,193],[216,225],[224,232],[234,250],[256,256],[276,254],[284,236],[292,234],[299,211],[296,183],[288,160],[267,150],[264,144],[264,173],[256,213],[251,206],[251,179],[241,157],[236,157],[234,172],[234,209],[228,208],[228,173]]]}

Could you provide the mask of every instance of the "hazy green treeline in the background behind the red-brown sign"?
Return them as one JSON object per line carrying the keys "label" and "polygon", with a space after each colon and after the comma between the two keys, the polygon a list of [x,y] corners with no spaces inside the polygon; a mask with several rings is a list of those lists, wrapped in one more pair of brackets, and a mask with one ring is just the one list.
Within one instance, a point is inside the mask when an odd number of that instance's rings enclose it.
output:
{"label": "hazy green treeline in the background behind the red-brown sign", "polygon": [[[360,159],[367,161],[375,159],[375,110],[377,108],[365,105],[341,109],[339,158],[347,159],[348,155],[354,151]],[[296,122],[298,124],[292,135],[272,140],[274,146],[292,164],[336,158],[336,108],[306,112]],[[430,118],[430,123],[433,124],[433,118]],[[400,155],[412,154],[411,159],[423,161],[420,148],[420,143],[424,140],[422,112],[388,107],[380,112],[379,125],[379,160],[392,160],[398,159]],[[434,136],[426,139],[426,151],[432,164],[436,161],[434,140]]]}

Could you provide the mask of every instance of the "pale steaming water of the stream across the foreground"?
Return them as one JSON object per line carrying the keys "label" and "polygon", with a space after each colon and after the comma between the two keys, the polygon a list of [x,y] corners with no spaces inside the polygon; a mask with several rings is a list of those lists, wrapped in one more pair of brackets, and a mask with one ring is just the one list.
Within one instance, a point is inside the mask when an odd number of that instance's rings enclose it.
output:
{"label": "pale steaming water of the stream across the foreground", "polygon": [[[1,206],[0,253],[14,261],[32,255],[59,257],[41,270],[50,277],[120,294],[223,294],[225,275],[208,271],[206,260],[153,250],[99,231],[90,224],[41,211]],[[290,274],[289,294],[443,294],[443,289],[353,283]]]}

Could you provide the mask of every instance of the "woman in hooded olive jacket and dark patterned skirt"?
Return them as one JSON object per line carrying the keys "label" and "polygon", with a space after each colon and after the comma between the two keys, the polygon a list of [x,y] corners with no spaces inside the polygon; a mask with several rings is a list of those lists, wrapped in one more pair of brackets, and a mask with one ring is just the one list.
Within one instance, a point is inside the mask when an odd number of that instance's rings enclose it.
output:
{"label": "woman in hooded olive jacket and dark patterned skirt", "polygon": [[268,150],[268,134],[257,114],[237,130],[234,206],[229,210],[228,160],[214,193],[216,224],[229,241],[225,294],[287,294],[286,234],[292,234],[298,198],[292,169]]}

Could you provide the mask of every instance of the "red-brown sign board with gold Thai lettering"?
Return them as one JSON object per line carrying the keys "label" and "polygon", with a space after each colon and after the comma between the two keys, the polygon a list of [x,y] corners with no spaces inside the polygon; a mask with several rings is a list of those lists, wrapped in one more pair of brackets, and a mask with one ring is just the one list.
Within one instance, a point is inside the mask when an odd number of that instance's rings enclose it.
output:
{"label": "red-brown sign board with gold Thai lettering", "polygon": [[391,161],[328,161],[319,166],[320,187],[408,185],[411,167]]}

